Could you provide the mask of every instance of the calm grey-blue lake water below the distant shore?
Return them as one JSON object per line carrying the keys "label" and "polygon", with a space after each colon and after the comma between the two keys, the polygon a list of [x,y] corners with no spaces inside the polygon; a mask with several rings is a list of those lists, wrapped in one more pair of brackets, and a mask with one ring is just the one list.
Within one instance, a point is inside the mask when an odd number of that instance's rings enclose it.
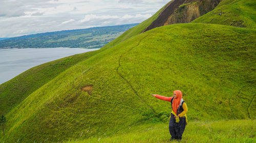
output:
{"label": "calm grey-blue lake water below the distant shore", "polygon": [[66,56],[97,49],[80,48],[26,48],[0,49],[0,84],[24,71]]}

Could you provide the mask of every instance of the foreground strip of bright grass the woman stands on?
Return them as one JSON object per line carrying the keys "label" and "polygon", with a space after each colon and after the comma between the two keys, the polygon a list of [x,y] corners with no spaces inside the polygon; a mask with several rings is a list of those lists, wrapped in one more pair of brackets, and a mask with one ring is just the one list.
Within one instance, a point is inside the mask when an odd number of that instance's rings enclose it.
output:
{"label": "foreground strip of bright grass the woman stands on", "polygon": [[[255,142],[256,120],[230,120],[189,123],[181,142]],[[112,136],[99,136],[80,140],[78,137],[65,143],[82,142],[178,142],[169,141],[168,124],[145,124],[135,129],[127,128],[129,133]]]}

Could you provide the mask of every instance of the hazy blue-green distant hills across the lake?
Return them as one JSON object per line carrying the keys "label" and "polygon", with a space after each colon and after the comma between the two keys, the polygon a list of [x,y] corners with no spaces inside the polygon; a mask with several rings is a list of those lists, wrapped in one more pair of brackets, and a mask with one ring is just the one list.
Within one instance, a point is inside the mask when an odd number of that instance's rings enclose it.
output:
{"label": "hazy blue-green distant hills across the lake", "polygon": [[138,23],[14,37],[3,39],[0,42],[0,49],[54,47],[101,48],[136,25],[138,25]]}

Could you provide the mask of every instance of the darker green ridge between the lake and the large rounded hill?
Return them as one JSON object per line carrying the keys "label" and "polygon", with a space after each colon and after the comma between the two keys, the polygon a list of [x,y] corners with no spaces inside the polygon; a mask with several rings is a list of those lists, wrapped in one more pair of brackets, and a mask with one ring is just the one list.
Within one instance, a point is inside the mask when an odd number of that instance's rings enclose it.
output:
{"label": "darker green ridge between the lake and the large rounded hill", "polygon": [[[163,9],[163,8],[162,8]],[[161,10],[162,10],[161,9]],[[26,72],[19,74],[13,79],[0,84],[0,115],[6,115],[13,107],[22,102],[31,93],[42,87],[42,85],[51,81],[54,77],[61,72],[74,66],[75,64],[96,55],[105,49],[111,48],[114,45],[138,35],[144,30],[145,27],[150,25],[152,21],[157,18],[157,15],[161,12],[159,10],[154,16],[143,21],[139,25],[131,28],[123,33],[121,36],[106,44],[100,50],[76,54],[67,58],[52,61],[46,64],[42,64],[27,70]],[[22,83],[22,84],[20,84]]]}

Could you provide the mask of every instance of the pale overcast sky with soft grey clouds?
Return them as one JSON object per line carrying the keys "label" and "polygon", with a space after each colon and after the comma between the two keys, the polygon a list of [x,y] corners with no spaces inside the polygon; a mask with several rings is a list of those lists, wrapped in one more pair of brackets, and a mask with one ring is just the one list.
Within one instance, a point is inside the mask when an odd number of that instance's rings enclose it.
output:
{"label": "pale overcast sky with soft grey clouds", "polygon": [[140,23],[170,0],[0,0],[0,38]]}

